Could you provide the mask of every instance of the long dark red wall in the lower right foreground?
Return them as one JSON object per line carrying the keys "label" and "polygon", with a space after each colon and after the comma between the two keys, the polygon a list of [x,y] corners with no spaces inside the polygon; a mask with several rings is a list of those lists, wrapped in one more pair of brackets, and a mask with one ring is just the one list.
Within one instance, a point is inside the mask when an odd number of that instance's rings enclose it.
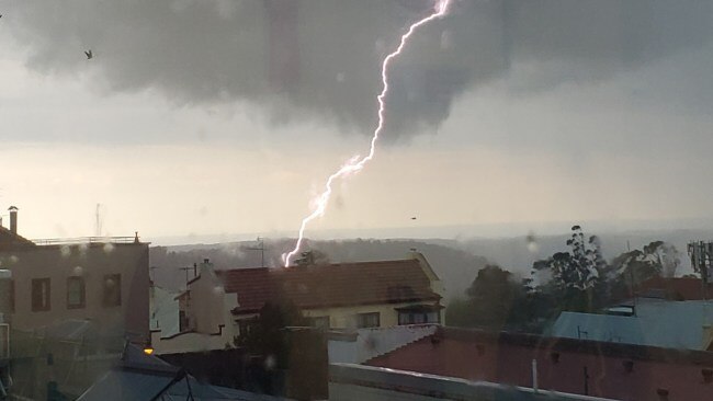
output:
{"label": "long dark red wall in the lower right foreground", "polygon": [[[624,356],[558,351],[553,362],[546,348],[502,343],[477,343],[452,339],[420,340],[367,362],[367,365],[411,370],[468,380],[532,387],[532,359],[537,362],[539,387],[570,393],[620,400],[710,400],[713,382],[705,382],[703,368],[693,363],[631,359]],[[633,360],[632,371],[624,363]],[[585,368],[587,376],[585,378]]]}

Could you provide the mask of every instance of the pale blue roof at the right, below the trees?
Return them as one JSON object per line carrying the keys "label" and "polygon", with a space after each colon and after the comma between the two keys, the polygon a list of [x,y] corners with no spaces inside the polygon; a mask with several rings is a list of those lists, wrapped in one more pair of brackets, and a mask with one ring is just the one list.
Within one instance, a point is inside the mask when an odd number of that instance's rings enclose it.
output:
{"label": "pale blue roof at the right, below the trees", "polygon": [[711,301],[642,300],[636,316],[562,312],[552,328],[556,337],[595,340],[665,348],[706,350],[705,326],[713,323]]}

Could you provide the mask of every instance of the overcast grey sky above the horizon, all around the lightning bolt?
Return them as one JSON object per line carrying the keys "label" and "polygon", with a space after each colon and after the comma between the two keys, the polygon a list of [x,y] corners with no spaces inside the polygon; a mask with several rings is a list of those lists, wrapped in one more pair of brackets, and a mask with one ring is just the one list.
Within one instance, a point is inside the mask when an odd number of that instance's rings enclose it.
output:
{"label": "overcast grey sky above the horizon, all around the lightning bolt", "polygon": [[[294,236],[431,7],[0,0],[0,204],[30,238],[94,234],[97,204],[103,234]],[[394,62],[376,159],[310,230],[713,218],[711,21],[457,1]]]}

